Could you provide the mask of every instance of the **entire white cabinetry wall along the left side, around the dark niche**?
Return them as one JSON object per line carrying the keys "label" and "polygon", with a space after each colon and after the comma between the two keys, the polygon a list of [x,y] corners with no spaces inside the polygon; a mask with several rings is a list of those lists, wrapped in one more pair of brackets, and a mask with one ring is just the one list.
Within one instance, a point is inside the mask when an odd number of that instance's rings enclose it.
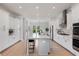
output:
{"label": "entire white cabinetry wall along the left side, around the dark niche", "polygon": [[[9,23],[10,21],[12,21],[10,19],[10,13],[0,9],[0,52],[20,40],[19,19],[13,19],[14,22]],[[9,36],[10,26],[16,29],[15,35],[12,37]]]}

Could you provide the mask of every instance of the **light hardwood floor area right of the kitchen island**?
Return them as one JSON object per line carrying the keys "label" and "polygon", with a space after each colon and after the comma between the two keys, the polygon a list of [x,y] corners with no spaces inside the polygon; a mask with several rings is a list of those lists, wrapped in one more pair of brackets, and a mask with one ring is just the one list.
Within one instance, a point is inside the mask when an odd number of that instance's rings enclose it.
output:
{"label": "light hardwood floor area right of the kitchen island", "polygon": [[52,51],[50,56],[73,56],[68,50],[57,44],[55,41],[52,42]]}

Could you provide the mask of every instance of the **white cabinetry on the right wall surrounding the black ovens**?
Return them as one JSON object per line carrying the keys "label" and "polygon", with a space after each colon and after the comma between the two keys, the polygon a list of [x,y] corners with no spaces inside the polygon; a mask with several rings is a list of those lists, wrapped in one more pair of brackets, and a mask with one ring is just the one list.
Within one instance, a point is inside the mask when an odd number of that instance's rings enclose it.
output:
{"label": "white cabinetry on the right wall surrounding the black ovens", "polygon": [[79,4],[75,4],[74,6],[72,6],[71,11],[68,12],[67,14],[67,31],[69,35],[66,36],[57,34],[56,29],[58,28],[58,25],[55,24],[54,40],[58,42],[60,45],[62,45],[64,48],[71,51],[73,54],[79,55],[79,52],[73,49],[73,39],[72,39],[73,23],[79,23]]}

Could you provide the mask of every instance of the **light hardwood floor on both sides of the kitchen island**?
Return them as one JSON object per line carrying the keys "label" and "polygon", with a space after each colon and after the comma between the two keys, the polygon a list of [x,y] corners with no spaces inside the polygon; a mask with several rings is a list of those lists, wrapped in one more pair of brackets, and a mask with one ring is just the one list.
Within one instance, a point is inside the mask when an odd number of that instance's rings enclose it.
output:
{"label": "light hardwood floor on both sides of the kitchen island", "polygon": [[[73,56],[69,51],[61,47],[56,42],[52,42],[52,50],[49,56]],[[0,53],[1,56],[25,56],[26,55],[26,44],[21,41],[14,46],[8,48],[4,52]]]}

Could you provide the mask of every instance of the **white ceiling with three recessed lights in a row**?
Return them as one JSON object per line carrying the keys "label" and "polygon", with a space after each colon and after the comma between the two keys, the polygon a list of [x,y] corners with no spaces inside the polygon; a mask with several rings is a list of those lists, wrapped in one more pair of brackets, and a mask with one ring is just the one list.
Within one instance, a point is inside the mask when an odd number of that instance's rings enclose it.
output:
{"label": "white ceiling with three recessed lights in a row", "polygon": [[56,18],[71,3],[4,3],[1,4],[11,12],[28,18]]}

